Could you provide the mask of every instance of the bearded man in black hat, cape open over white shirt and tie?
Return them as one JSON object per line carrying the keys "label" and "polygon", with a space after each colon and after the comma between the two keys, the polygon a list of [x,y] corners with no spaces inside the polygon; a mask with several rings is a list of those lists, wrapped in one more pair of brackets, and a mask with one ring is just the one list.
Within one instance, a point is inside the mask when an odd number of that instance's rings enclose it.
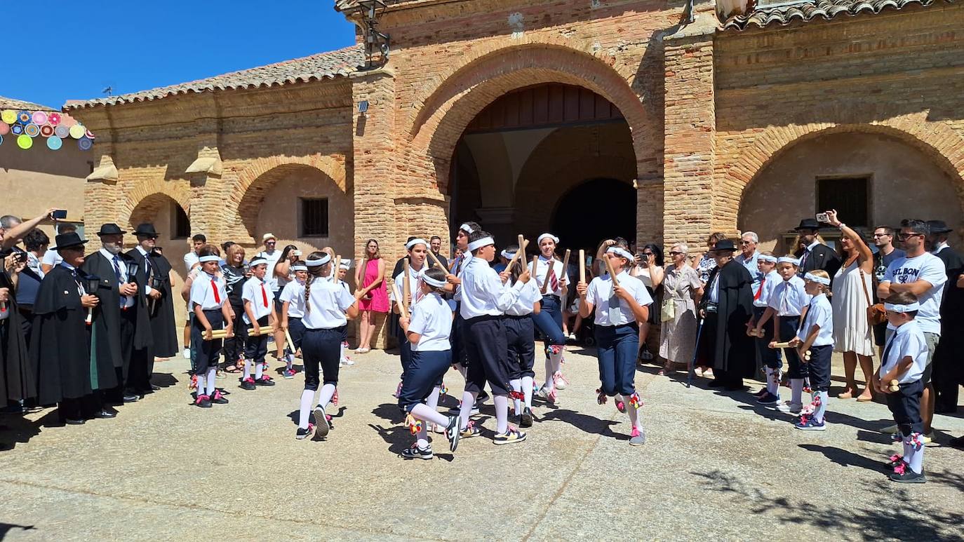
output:
{"label": "bearded man in black hat, cape open over white shirt and tie", "polygon": [[88,274],[100,278],[91,349],[94,356],[110,359],[114,365],[118,386],[105,391],[102,399],[115,404],[139,399],[130,387],[130,361],[134,350],[151,344],[147,304],[136,282],[137,262],[120,254],[125,233],[117,224],[100,226],[101,248],[88,254],[83,266]]}

